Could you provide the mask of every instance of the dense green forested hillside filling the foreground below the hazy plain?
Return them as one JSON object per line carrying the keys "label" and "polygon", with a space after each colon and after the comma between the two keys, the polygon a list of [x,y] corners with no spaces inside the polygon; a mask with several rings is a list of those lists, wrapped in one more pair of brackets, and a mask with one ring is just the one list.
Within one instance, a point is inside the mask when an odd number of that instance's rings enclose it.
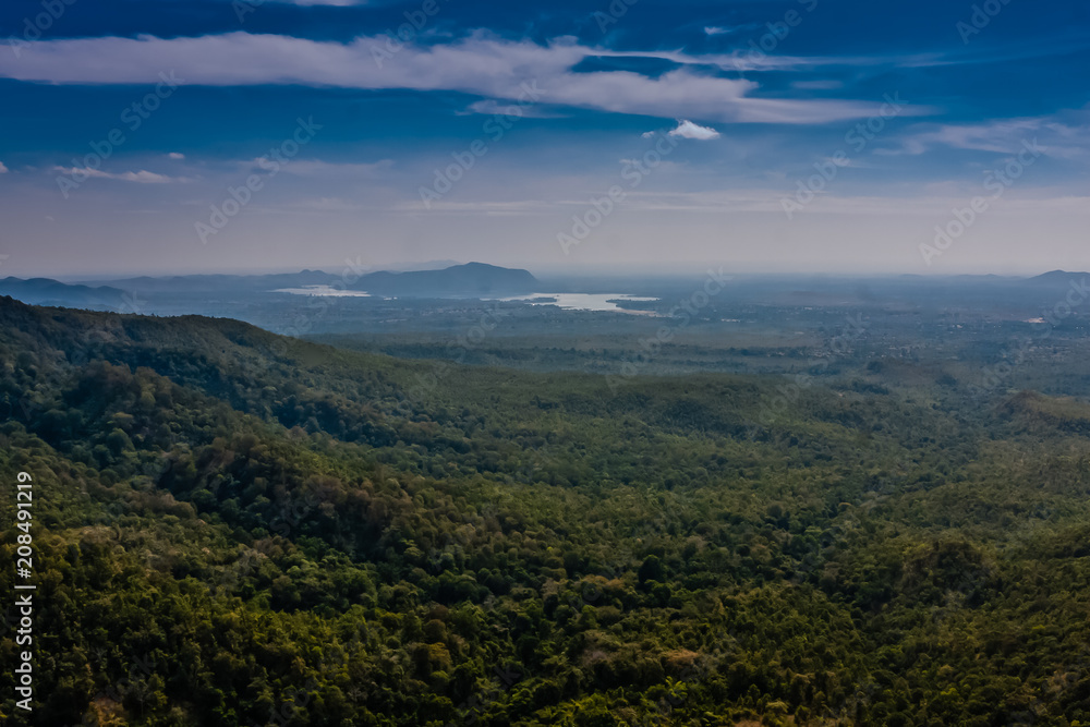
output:
{"label": "dense green forested hillside filling the foreground below the hazy plain", "polygon": [[758,427],[783,379],[11,299],[0,372],[13,725],[1090,722],[1079,402],[834,381]]}

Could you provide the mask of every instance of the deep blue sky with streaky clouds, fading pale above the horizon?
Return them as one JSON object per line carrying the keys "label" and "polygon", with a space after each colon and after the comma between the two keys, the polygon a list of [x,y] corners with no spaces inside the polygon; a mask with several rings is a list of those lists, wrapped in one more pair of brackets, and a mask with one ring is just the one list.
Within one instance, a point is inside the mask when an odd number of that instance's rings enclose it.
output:
{"label": "deep blue sky with streaky clouds, fading pale above the horizon", "polygon": [[9,0],[0,277],[1087,269],[1070,0]]}

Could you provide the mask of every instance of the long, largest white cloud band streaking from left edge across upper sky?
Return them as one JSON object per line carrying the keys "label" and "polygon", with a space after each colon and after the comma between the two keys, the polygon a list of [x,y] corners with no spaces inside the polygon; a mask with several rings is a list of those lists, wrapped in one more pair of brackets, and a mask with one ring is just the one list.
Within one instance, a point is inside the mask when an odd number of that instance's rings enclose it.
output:
{"label": "long, largest white cloud band streaking from left edge across upper sky", "polygon": [[[453,90],[484,98],[528,98],[525,78],[540,100],[614,113],[658,118],[682,114],[724,122],[825,123],[860,119],[879,104],[836,99],[755,98],[753,81],[711,75],[710,65],[736,57],[674,52],[617,53],[558,38],[547,46],[484,33],[436,46],[405,45],[395,54],[385,36],[350,43],[277,35],[227,33],[191,38],[69,38],[21,47],[19,59],[0,53],[0,77],[57,84],[143,84],[172,69],[182,84],[244,86],[300,84],[342,88]],[[386,52],[386,56],[376,52]],[[591,56],[667,58],[681,64],[658,77],[631,71],[577,73]],[[788,61],[784,61],[788,62]],[[536,95],[534,90],[532,95]],[[534,100],[531,98],[531,100]],[[903,113],[918,113],[905,109]]]}

